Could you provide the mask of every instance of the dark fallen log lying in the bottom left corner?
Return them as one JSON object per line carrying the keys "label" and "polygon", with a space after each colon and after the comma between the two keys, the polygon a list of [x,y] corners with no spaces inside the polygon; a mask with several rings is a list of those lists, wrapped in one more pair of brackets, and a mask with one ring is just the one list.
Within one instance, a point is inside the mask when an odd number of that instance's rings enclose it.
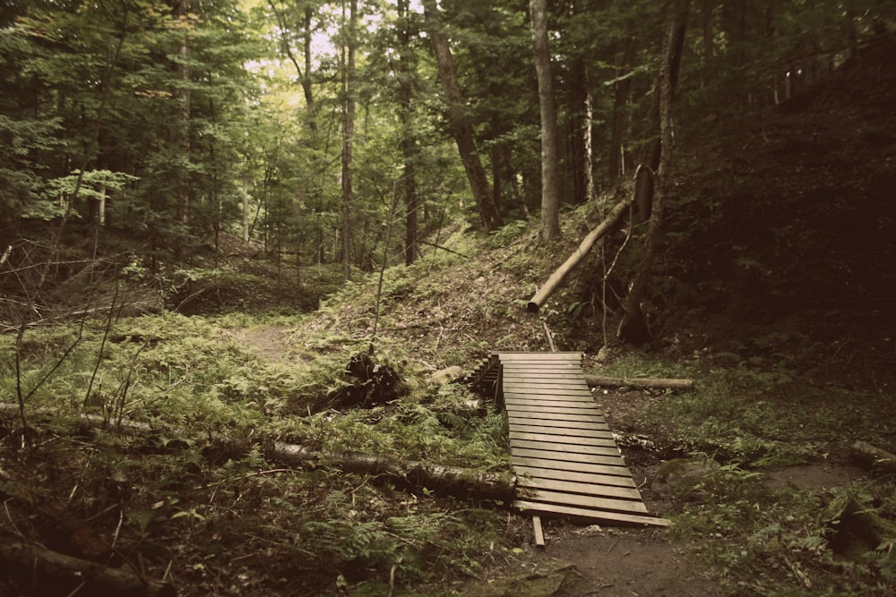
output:
{"label": "dark fallen log lying in the bottom left corner", "polygon": [[[0,560],[4,569],[21,567],[22,575],[47,580],[54,584],[71,585],[72,594],[83,586],[83,594],[128,595],[130,597],[175,597],[173,584],[138,576],[124,568],[104,566],[87,559],[73,558],[63,553],[46,550],[36,545],[0,539]],[[29,581],[30,582],[30,581]]]}

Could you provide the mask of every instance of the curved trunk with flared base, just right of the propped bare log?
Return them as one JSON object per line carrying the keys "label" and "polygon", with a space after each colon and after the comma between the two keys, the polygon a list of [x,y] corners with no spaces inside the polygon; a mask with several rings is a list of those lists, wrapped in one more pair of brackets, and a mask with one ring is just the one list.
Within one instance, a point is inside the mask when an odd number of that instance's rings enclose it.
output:
{"label": "curved trunk with flared base, just right of the propped bare log", "polygon": [[676,0],[669,7],[666,30],[663,36],[662,64],[659,68],[659,168],[657,189],[650,209],[650,225],[644,242],[641,264],[635,274],[628,297],[625,300],[625,315],[619,322],[616,337],[624,342],[642,344],[649,342],[652,335],[642,311],[642,302],[650,286],[650,270],[653,256],[661,240],[664,200],[668,192],[668,166],[672,155],[672,92],[675,72],[681,59],[681,48],[685,38],[688,0]]}

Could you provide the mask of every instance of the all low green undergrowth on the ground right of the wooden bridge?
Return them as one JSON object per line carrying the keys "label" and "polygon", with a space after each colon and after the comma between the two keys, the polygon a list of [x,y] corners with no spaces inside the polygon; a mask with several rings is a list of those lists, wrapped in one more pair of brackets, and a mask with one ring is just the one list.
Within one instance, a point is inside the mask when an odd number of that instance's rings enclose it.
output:
{"label": "all low green undergrowth on the ground right of the wooden bridge", "polygon": [[709,351],[674,362],[625,354],[599,369],[694,379],[689,392],[654,390],[639,417],[667,457],[719,465],[676,487],[670,537],[690,545],[729,593],[892,594],[896,480],[849,469],[837,485],[769,481],[781,467],[846,466],[857,439],[896,448],[892,395],[813,383],[806,371],[813,362],[798,353]]}

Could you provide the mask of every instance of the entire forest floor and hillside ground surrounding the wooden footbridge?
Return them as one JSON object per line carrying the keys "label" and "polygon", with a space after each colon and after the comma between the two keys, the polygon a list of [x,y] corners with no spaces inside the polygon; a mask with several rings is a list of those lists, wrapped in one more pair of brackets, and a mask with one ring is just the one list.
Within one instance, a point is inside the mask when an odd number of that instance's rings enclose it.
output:
{"label": "entire forest floor and hillside ground surrounding the wooden footbridge", "polygon": [[[751,130],[720,125],[714,140],[690,141],[700,159],[676,178],[655,267],[655,339],[601,362],[594,354],[613,337],[601,305],[618,315],[611,297],[625,295],[623,272],[636,267],[623,233],[538,316],[525,311],[601,219],[598,201],[564,211],[564,238],[551,247],[538,245],[535,222],[493,235],[457,223],[440,237],[452,252],[387,269],[379,290],[375,276],[359,276],[316,311],[331,291],[312,292],[314,278],[269,283],[260,298],[269,264],[246,260],[234,269],[260,273],[203,277],[194,282],[207,286],[185,285],[169,311],[121,329],[30,328],[6,353],[22,362],[0,359],[10,397],[20,382],[47,381],[31,400],[39,427],[0,419],[0,530],[58,550],[86,535],[96,541],[82,551],[97,543],[103,558],[114,545],[189,597],[382,596],[396,570],[396,597],[893,594],[896,485],[848,459],[857,439],[896,449],[892,47],[879,59],[869,49]],[[0,342],[12,348],[14,336]],[[648,509],[674,520],[668,530],[546,521],[538,549],[530,519],[503,506],[329,465],[284,467],[265,459],[261,440],[242,451],[214,441],[267,433],[506,471],[497,417],[439,411],[470,395],[430,375],[470,371],[492,351],[547,351],[551,340],[588,354],[588,373],[697,379],[680,395],[596,394]],[[346,361],[368,345],[409,391],[369,411],[316,408],[347,385]],[[157,426],[73,434],[40,420],[47,407]],[[695,487],[656,482],[664,465],[700,456],[718,468]],[[405,556],[418,560],[400,567]],[[8,586],[0,576],[0,593],[14,584],[24,588],[11,594],[59,594],[37,593],[24,576]]]}

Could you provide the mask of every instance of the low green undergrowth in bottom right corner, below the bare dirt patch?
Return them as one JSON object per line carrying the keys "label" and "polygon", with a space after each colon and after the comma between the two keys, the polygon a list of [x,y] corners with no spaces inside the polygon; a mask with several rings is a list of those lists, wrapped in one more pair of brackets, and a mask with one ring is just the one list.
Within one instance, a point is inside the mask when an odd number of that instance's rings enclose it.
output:
{"label": "low green undergrowth in bottom right corner, below the bare dirt patch", "polygon": [[722,465],[688,488],[670,536],[737,595],[889,595],[896,588],[896,485],[774,488]]}

